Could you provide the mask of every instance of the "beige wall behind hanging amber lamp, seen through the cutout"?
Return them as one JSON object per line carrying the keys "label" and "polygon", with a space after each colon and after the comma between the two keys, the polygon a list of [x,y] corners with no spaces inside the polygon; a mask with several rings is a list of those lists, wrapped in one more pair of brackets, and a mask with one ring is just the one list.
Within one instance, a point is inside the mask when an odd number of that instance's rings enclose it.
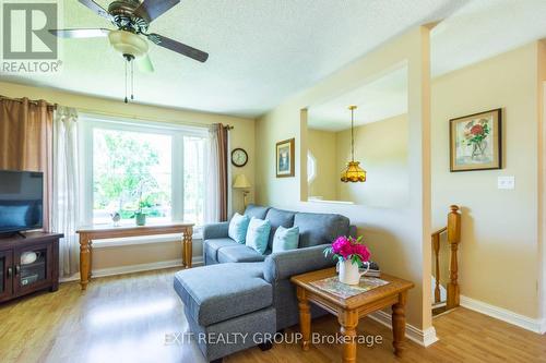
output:
{"label": "beige wall behind hanging amber lamp, seen through the cutout", "polygon": [[[351,130],[336,136],[337,170],[343,170],[351,160]],[[366,183],[336,182],[337,199],[373,207],[407,206],[407,114],[355,128],[355,159],[366,170]]]}

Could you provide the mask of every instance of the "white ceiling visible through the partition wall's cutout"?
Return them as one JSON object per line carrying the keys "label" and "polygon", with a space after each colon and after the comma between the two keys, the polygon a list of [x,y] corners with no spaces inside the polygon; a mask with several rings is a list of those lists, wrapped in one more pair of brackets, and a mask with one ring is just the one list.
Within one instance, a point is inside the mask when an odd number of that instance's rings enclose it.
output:
{"label": "white ceiling visible through the partition wall's cutout", "polygon": [[382,75],[359,88],[312,105],[308,126],[328,131],[351,128],[348,106],[356,105],[355,126],[407,112],[407,66]]}

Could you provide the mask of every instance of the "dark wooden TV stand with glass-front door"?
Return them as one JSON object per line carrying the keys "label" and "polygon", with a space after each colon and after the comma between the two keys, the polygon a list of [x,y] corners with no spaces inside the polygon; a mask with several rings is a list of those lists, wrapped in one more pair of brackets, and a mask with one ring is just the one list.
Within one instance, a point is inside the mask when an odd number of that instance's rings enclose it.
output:
{"label": "dark wooden TV stand with glass-front door", "polygon": [[[59,239],[63,235],[46,232],[24,235],[0,238],[0,302],[59,288]],[[25,263],[28,253],[35,253],[36,259]]]}

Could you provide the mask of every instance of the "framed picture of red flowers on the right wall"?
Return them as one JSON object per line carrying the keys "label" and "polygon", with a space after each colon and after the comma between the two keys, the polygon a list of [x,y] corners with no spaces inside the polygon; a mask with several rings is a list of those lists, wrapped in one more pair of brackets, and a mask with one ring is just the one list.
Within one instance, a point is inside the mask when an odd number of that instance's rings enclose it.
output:
{"label": "framed picture of red flowers on the right wall", "polygon": [[451,171],[502,168],[501,109],[451,119]]}

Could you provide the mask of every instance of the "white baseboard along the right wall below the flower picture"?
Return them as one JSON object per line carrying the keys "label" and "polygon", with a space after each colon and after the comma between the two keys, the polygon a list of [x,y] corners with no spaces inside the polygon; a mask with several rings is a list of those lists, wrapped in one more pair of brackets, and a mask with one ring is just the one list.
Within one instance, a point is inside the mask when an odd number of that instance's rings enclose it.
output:
{"label": "white baseboard along the right wall below the flower picture", "polygon": [[538,334],[546,332],[546,319],[535,319],[525,315],[514,313],[512,311],[490,305],[488,303],[474,300],[468,297],[460,297],[461,306],[468,310],[495,317],[499,320],[517,325],[523,329],[531,330]]}

